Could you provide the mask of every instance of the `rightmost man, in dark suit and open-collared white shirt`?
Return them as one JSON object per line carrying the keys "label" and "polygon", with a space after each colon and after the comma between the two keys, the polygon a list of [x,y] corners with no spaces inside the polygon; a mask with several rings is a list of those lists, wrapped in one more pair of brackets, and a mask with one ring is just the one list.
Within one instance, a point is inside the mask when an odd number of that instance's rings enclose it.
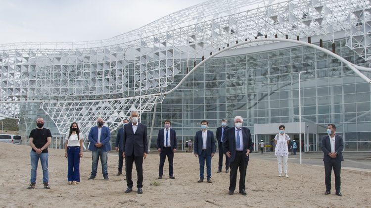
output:
{"label": "rightmost man, in dark suit and open-collared white shirt", "polygon": [[340,135],[335,135],[336,126],[334,124],[327,125],[327,136],[322,139],[322,151],[324,152],[325,165],[325,195],[330,194],[331,190],[331,169],[335,174],[335,191],[337,196],[342,196],[340,192],[340,169],[343,158],[343,138]]}

